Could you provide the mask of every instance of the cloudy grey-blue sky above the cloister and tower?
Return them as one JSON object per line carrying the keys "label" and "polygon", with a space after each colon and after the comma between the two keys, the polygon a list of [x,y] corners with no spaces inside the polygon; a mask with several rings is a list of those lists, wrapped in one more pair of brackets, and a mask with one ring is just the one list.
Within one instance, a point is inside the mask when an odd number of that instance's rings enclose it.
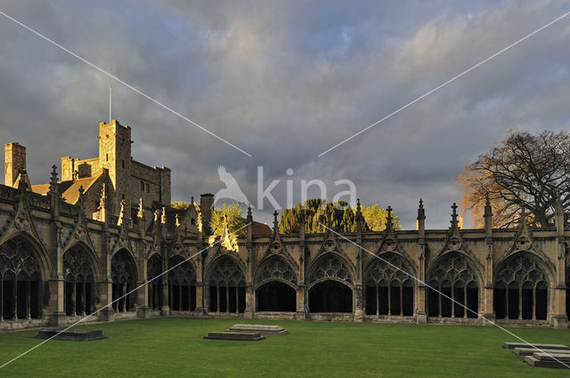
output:
{"label": "cloudy grey-blue sky above the cloister and tower", "polygon": [[0,141],[27,147],[32,184],[62,156],[97,156],[109,85],[134,159],[172,169],[173,200],[223,189],[224,166],[269,224],[259,166],[281,206],[288,191],[300,201],[303,180],[323,181],[328,200],[350,180],[404,229],[420,197],[427,228],[447,229],[465,165],[511,129],[568,129],[570,15],[318,157],[570,11],[566,0],[2,0],[0,11],[251,155],[0,15]]}

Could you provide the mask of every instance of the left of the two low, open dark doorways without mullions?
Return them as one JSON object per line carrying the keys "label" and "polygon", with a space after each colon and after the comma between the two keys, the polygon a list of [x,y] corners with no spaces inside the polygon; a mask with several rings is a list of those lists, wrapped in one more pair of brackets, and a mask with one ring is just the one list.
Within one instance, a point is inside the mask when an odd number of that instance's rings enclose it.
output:
{"label": "left of the two low, open dark doorways without mullions", "polygon": [[279,281],[271,281],[257,287],[256,304],[258,311],[295,311],[297,292],[294,288]]}

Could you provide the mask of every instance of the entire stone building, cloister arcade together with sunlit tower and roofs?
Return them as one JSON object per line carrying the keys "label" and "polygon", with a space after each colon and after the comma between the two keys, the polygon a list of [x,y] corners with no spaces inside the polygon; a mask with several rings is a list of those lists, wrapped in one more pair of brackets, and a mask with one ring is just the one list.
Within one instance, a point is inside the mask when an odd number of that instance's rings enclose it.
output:
{"label": "entire stone building, cloister arcade together with sunlit tower and roofs", "polygon": [[[131,128],[99,126],[99,157],[61,158],[30,185],[26,149],[5,145],[0,185],[0,330],[166,316],[568,327],[570,253],[552,228],[293,234],[256,222],[209,230],[214,196],[173,208],[170,170],[135,161]],[[164,273],[164,274],[163,274]]]}

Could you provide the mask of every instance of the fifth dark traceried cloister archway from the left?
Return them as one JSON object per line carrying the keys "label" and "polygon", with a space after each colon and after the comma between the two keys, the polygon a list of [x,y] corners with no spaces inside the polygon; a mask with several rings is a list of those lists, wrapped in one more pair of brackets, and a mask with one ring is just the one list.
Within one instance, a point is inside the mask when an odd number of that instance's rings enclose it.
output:
{"label": "fifth dark traceried cloister archway from the left", "polygon": [[168,271],[170,310],[193,311],[196,310],[196,272],[190,261],[182,261],[182,256],[168,260],[168,266],[171,267]]}

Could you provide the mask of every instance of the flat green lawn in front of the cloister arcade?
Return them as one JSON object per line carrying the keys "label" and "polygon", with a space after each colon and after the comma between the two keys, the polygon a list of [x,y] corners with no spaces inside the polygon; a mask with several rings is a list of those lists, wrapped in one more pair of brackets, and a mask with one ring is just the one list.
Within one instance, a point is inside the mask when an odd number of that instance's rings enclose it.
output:
{"label": "flat green lawn in front of the cloister arcade", "polygon": [[[234,323],[279,324],[262,342],[202,340]],[[8,377],[569,377],[527,366],[487,326],[416,326],[157,318],[84,326],[97,342],[46,342],[0,370]],[[569,343],[570,330],[511,329],[529,342]],[[37,331],[0,334],[0,365],[37,345]]]}

